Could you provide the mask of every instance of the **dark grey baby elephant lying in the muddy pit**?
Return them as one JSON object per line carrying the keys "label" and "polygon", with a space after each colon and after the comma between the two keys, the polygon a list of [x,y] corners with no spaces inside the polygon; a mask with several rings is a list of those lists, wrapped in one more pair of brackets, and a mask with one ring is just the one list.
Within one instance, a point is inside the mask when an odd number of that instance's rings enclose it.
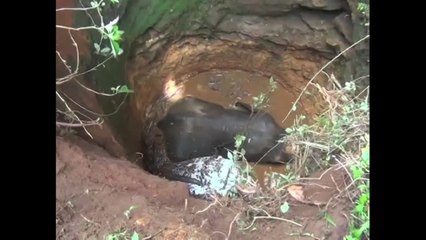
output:
{"label": "dark grey baby elephant lying in the muddy pit", "polygon": [[281,128],[272,116],[252,111],[250,106],[237,103],[237,109],[186,96],[174,103],[157,126],[163,132],[169,159],[181,162],[192,158],[212,156],[224,149],[234,150],[234,137],[244,135],[242,148],[249,162],[285,163],[291,155],[284,143]]}

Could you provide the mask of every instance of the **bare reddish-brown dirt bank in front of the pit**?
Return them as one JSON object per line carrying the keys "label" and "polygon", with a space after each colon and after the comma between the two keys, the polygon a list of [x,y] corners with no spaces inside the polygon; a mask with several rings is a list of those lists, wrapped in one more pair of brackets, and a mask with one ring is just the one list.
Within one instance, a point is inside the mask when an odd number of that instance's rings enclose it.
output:
{"label": "bare reddish-brown dirt bank in front of the pit", "polygon": [[[191,198],[183,183],[150,175],[80,138],[57,137],[56,147],[57,239],[105,239],[120,229],[137,231],[140,239],[340,240],[346,233],[346,204],[339,202],[328,206],[335,226],[320,215],[318,206],[295,202],[287,217],[302,227],[260,219],[250,232],[239,230],[239,221],[229,231],[238,214],[235,206],[244,204],[242,201],[198,212],[210,202]],[[313,180],[305,194],[311,200],[327,202],[338,193],[342,181],[340,171],[329,171]],[[128,219],[124,212],[131,206],[137,208]]]}

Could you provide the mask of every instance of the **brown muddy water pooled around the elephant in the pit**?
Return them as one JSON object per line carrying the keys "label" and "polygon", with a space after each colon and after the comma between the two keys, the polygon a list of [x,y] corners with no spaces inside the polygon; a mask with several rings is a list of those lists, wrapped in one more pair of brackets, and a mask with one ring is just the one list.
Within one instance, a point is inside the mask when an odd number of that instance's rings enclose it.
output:
{"label": "brown muddy water pooled around the elephant in the pit", "polygon": [[[221,104],[224,107],[232,106],[235,101],[253,103],[253,97],[261,92],[267,93],[270,89],[269,78],[253,73],[232,71],[210,71],[193,76],[184,84],[183,95],[192,95],[207,101]],[[291,109],[295,96],[286,91],[280,84],[270,95],[269,106],[266,109],[282,127],[290,127],[295,116],[300,111],[292,113],[287,120],[281,121]],[[258,164],[255,172],[259,183],[263,185],[267,172],[285,173],[283,165]]]}

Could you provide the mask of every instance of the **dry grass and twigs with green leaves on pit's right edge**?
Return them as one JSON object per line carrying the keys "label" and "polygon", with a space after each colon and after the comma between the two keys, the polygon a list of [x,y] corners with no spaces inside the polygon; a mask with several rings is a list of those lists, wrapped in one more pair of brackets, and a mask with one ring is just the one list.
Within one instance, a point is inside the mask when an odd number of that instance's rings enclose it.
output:
{"label": "dry grass and twigs with green leaves on pit's right edge", "polygon": [[[348,181],[331,200],[343,199],[351,205],[345,239],[369,238],[369,87],[360,89],[356,81],[346,82],[342,86],[332,75],[328,86],[311,83],[309,92],[321,96],[323,111],[310,116],[310,123],[306,123],[308,117],[300,115],[294,125],[286,129],[288,136],[282,141],[287,142],[295,156],[287,166],[287,173],[269,174],[263,190],[250,194],[243,191],[248,207],[244,210],[245,215],[237,221],[240,229],[253,230],[256,219],[287,221],[282,217],[291,208],[288,200],[290,197],[297,199],[299,191],[295,189],[291,192],[289,187],[306,182],[304,179],[314,172],[339,168],[344,170]],[[241,140],[244,139],[237,136],[237,149]],[[240,151],[244,153],[244,149]],[[233,156],[236,156],[235,152]],[[257,184],[253,169],[246,164],[241,185],[244,189],[256,189]],[[304,201],[302,197],[299,200]],[[330,202],[319,206],[322,208],[320,215],[327,225],[336,226],[328,214],[328,206]]]}

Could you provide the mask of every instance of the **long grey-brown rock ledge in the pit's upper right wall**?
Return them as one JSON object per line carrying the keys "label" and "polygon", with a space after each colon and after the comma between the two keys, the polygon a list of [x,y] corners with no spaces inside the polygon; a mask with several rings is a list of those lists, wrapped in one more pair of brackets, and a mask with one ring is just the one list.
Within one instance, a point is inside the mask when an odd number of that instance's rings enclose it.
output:
{"label": "long grey-brown rock ledge in the pit's upper right wall", "polygon": [[333,22],[336,15],[306,10],[281,17],[228,15],[217,29],[226,33],[240,33],[244,37],[251,36],[253,39],[267,40],[278,45],[334,53],[334,48],[330,46],[338,46],[339,50],[343,50],[348,45],[343,36],[330,34],[332,31],[336,32]]}

